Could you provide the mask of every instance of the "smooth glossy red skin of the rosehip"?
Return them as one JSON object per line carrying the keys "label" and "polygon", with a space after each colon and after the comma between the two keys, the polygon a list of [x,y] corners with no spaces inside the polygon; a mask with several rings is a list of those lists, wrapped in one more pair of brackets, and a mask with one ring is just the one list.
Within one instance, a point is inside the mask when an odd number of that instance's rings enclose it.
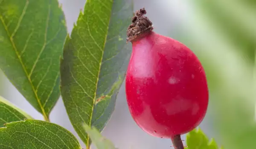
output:
{"label": "smooth glossy red skin of the rosehip", "polygon": [[206,74],[196,55],[177,40],[153,31],[131,43],[125,90],[137,125],[161,138],[195,129],[209,100]]}

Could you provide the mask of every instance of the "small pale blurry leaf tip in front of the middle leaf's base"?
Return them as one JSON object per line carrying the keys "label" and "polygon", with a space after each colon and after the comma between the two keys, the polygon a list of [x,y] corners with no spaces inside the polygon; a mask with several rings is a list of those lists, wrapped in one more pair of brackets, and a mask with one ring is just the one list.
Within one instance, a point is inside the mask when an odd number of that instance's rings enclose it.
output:
{"label": "small pale blurry leaf tip in front of the middle leaf's base", "polygon": [[114,144],[110,140],[104,138],[95,127],[90,128],[90,126],[84,124],[84,129],[90,136],[92,142],[96,145],[97,149],[116,149]]}

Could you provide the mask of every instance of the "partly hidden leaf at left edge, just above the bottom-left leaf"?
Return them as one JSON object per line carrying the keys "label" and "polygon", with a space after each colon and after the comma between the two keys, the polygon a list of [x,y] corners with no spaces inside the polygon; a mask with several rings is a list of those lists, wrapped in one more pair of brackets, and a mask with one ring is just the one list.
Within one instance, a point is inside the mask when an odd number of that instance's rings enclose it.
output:
{"label": "partly hidden leaf at left edge, just above the bottom-left leaf", "polygon": [[21,109],[0,96],[0,127],[3,127],[3,124],[5,123],[24,120],[26,118],[33,119]]}

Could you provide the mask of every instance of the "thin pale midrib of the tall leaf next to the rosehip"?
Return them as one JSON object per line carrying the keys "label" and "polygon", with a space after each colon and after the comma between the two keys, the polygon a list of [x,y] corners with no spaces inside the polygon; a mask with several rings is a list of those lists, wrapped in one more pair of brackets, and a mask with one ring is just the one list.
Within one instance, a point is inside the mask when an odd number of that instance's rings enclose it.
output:
{"label": "thin pale midrib of the tall leaf next to the rosehip", "polygon": [[[113,7],[113,0],[111,0],[111,3],[112,3],[112,7]],[[96,78],[96,85],[95,85],[95,91],[94,91],[94,97],[93,97],[93,105],[92,105],[92,113],[91,113],[91,116],[90,116],[89,126],[91,126],[91,123],[92,123],[93,109],[94,109],[94,106],[95,106],[95,100],[96,100],[96,96],[97,96],[97,89],[98,89],[98,83],[99,83],[99,74],[100,74],[100,69],[101,69],[101,66],[102,66],[102,59],[103,59],[103,55],[104,55],[104,51],[105,51],[105,45],[106,45],[106,42],[107,42],[108,29],[109,29],[109,24],[110,24],[111,16],[112,16],[112,9],[110,11],[110,17],[109,17],[109,20],[108,20],[107,32],[106,32],[104,44],[103,44],[103,47],[102,47],[102,55],[101,55],[101,59],[100,59],[100,63],[99,63],[99,72],[98,72],[98,75],[97,75],[97,78]],[[88,26],[88,32],[90,33],[88,22],[87,22],[87,26]],[[90,146],[90,137],[87,134],[87,147],[88,146]]]}

